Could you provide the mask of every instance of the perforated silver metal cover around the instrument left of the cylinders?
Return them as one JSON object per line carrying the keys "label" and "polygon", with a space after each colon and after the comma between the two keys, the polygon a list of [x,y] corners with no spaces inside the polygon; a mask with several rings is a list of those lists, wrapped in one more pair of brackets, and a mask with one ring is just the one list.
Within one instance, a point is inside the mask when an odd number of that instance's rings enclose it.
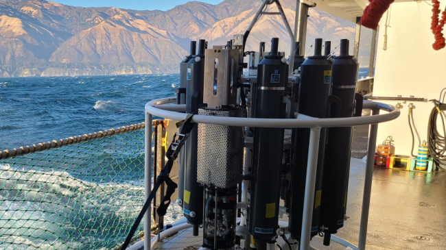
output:
{"label": "perforated silver metal cover around the instrument left of the cylinders", "polygon": [[[198,114],[246,117],[246,110],[200,109]],[[218,188],[229,188],[242,182],[243,133],[242,127],[198,125],[198,182]]]}

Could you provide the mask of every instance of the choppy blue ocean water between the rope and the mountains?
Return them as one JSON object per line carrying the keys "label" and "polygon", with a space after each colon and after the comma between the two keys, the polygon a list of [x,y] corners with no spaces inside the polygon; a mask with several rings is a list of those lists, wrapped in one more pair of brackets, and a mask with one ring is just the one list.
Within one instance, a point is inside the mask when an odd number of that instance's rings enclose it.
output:
{"label": "choppy blue ocean water between the rope and the mountains", "polygon": [[[368,68],[360,68],[360,78]],[[0,150],[144,121],[144,105],[175,96],[179,74],[0,78]]]}

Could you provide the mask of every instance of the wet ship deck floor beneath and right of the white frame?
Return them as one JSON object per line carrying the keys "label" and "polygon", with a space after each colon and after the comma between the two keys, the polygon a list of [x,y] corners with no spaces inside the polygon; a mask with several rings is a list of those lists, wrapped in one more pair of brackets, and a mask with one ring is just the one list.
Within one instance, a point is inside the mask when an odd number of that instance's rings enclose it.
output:
{"label": "wet ship deck floor beneath and right of the white frame", "polygon": [[[365,138],[364,138],[365,137]],[[365,155],[366,132],[355,129],[354,157]],[[351,160],[347,215],[337,236],[357,245],[364,188],[365,162]],[[190,229],[189,229],[190,231]],[[166,239],[154,249],[183,250],[200,247],[201,237],[186,230],[179,237]],[[315,237],[312,246],[320,250],[344,249],[336,243],[325,247]],[[446,173],[432,174],[375,168],[366,249],[446,249]]]}

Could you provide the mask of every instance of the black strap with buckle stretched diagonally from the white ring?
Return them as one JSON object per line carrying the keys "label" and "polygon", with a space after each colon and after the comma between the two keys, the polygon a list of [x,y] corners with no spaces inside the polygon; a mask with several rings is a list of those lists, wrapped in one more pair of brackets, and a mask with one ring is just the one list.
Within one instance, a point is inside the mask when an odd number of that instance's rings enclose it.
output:
{"label": "black strap with buckle stretched diagonally from the white ring", "polygon": [[[196,124],[196,123],[191,123],[192,116],[193,114],[188,114],[186,120],[180,122],[180,123],[184,122],[183,128],[181,129],[180,134],[176,134],[174,136],[174,140],[170,144],[170,147],[166,153],[167,159],[169,160],[167,160],[167,164],[165,164],[164,168],[161,170],[159,177],[156,177],[156,183],[153,186],[152,192],[150,192],[148,199],[145,201],[143,205],[143,209],[141,210],[141,212],[139,212],[136,221],[134,221],[132,229],[130,229],[128,236],[121,247],[121,250],[127,249],[134,233],[137,232],[139,223],[141,223],[145,212],[150,208],[150,204],[152,203],[152,200],[154,199],[156,192],[158,191],[161,184],[163,184],[163,182],[167,184],[167,191],[165,197],[163,198],[163,201],[161,201],[161,204],[159,208],[156,210],[156,212],[159,214],[159,216],[164,216],[166,214],[167,208],[169,207],[170,204],[170,197],[174,194],[176,188],[178,187],[178,185],[176,185],[176,183],[169,178],[169,173],[170,171],[172,171],[172,166],[174,166],[174,160],[176,160],[176,158],[178,157],[178,151],[180,151],[181,147],[183,147],[184,142],[187,139],[187,136],[189,136],[189,132],[191,132],[191,130]],[[177,135],[182,138],[177,140],[176,138]],[[145,145],[145,147],[148,147],[148,145]],[[150,237],[150,232],[145,232],[145,237]]]}

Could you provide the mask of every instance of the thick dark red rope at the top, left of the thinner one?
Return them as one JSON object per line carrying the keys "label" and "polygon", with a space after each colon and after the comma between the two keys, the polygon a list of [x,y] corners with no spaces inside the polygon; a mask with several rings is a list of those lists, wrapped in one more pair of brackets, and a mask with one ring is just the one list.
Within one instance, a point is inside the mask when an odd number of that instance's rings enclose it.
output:
{"label": "thick dark red rope at the top, left of the thinner one", "polygon": [[[390,7],[390,3],[395,0],[368,0],[369,5],[364,9],[364,14],[361,17],[361,25],[370,29],[378,27],[379,20],[382,15]],[[435,1],[435,0],[432,0]]]}

